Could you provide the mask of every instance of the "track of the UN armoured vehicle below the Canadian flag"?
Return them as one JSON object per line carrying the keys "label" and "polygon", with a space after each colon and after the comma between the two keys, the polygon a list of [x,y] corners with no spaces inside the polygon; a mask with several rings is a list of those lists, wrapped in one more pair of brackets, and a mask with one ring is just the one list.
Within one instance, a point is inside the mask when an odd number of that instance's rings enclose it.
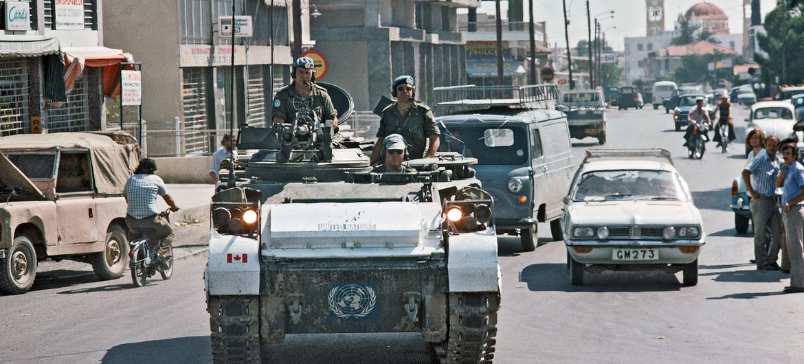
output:
{"label": "track of the UN armoured vehicle below the Canadian flag", "polygon": [[212,362],[259,363],[260,300],[256,296],[210,296]]}

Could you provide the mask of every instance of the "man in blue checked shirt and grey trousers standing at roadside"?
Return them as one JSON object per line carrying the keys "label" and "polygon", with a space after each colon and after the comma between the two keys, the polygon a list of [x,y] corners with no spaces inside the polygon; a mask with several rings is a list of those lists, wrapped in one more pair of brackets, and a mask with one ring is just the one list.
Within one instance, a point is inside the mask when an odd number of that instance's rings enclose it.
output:
{"label": "man in blue checked shirt and grey trousers standing at roadside", "polygon": [[[778,148],[779,138],[769,135],[765,138],[765,150],[757,153],[757,157],[743,170],[745,190],[751,196],[749,207],[753,219],[754,259],[757,260],[757,270],[763,271],[781,269],[776,262],[781,241],[781,215],[773,199],[781,164],[776,155]],[[766,230],[771,233],[767,252],[762,247]]]}

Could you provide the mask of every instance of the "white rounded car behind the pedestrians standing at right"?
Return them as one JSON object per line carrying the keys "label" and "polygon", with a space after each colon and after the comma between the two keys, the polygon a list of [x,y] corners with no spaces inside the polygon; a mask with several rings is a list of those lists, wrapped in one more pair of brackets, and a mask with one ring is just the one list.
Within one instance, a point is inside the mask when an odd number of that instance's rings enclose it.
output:
{"label": "white rounded car behind the pedestrians standing at right", "polygon": [[[753,129],[760,129],[765,136],[775,135],[779,140],[788,137],[798,138],[802,141],[802,133],[794,131],[797,119],[793,104],[786,101],[761,101],[751,105],[749,118],[745,119],[749,125],[745,128],[745,134]],[[745,147],[745,155],[751,149]]]}

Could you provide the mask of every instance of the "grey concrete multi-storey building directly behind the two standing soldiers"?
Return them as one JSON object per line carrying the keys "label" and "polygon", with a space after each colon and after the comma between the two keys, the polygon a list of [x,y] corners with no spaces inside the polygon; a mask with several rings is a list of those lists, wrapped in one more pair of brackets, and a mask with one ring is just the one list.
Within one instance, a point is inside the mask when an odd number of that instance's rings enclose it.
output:
{"label": "grey concrete multi-storey building directly behind the two standing soldiers", "polygon": [[411,75],[416,98],[433,100],[439,86],[466,83],[466,34],[457,9],[479,0],[321,0],[310,33],[328,63],[322,81],[351,94],[355,110],[391,96],[394,77]]}

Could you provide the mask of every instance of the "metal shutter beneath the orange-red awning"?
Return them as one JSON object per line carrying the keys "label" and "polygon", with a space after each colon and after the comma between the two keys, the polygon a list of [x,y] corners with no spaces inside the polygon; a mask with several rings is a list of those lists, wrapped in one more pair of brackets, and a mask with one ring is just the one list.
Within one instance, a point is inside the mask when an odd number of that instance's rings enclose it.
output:
{"label": "metal shutter beneath the orange-red awning", "polygon": [[89,81],[84,75],[76,80],[76,86],[67,95],[67,102],[58,106],[47,105],[47,132],[89,131]]}

